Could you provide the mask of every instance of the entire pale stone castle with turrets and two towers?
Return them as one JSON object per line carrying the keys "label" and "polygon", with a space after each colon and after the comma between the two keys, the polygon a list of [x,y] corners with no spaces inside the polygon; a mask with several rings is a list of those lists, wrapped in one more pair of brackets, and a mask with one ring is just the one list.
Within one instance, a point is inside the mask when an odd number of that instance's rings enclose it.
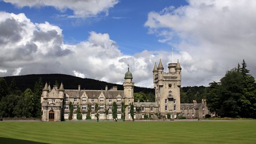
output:
{"label": "entire pale stone castle with turrets and two towers", "polygon": [[126,121],[132,120],[130,115],[132,104],[134,105],[134,119],[167,118],[167,115],[171,119],[178,116],[203,118],[206,114],[210,114],[205,99],[202,103],[197,103],[195,100],[193,103],[180,103],[181,67],[179,60],[177,63],[169,63],[168,68],[168,73],[164,73],[161,60],[158,67],[155,63],[153,69],[155,102],[134,102],[133,76],[129,68],[124,76],[124,90],[117,90],[116,86],[110,90],[108,86],[105,90],[81,90],[80,85],[77,90],[65,90],[62,83],[59,89],[57,86],[51,88],[45,83],[41,96],[42,121],[68,119],[70,102],[74,109],[73,119],[77,117],[78,107],[81,109],[82,119],[86,119],[88,115],[96,119],[96,114],[99,114],[99,119],[113,119],[114,102],[117,105],[117,119],[121,119],[123,115]]}

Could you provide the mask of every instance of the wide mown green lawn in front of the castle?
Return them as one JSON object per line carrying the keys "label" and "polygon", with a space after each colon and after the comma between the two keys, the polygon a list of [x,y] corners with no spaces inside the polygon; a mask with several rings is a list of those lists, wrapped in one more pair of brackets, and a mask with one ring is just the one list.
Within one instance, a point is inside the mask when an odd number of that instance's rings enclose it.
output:
{"label": "wide mown green lawn in front of the castle", "polygon": [[256,121],[0,122],[0,143],[256,143]]}

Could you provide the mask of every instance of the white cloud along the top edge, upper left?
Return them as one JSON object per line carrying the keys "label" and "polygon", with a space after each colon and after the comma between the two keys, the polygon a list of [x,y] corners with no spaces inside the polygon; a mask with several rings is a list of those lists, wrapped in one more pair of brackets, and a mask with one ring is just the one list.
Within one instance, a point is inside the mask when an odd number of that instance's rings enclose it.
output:
{"label": "white cloud along the top edge, upper left", "polygon": [[53,6],[64,12],[66,9],[73,10],[73,18],[86,18],[98,15],[100,13],[108,14],[108,9],[114,7],[118,0],[4,0],[6,3],[12,3],[18,7],[41,7]]}

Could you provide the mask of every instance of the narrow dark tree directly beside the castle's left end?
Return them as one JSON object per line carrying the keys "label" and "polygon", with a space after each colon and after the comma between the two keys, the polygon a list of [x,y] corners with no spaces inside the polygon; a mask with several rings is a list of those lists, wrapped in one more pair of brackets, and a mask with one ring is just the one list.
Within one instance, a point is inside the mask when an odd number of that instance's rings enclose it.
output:
{"label": "narrow dark tree directly beside the castle's left end", "polygon": [[33,111],[33,117],[41,117],[41,94],[43,91],[43,81],[39,77],[38,81],[35,83],[34,95],[35,95],[35,106]]}

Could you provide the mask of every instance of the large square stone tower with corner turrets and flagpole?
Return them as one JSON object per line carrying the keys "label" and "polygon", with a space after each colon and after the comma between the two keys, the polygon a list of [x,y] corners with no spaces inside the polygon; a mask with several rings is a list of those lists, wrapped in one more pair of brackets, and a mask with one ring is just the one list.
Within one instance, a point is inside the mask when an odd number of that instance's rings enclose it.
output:
{"label": "large square stone tower with corner turrets and flagpole", "polygon": [[156,65],[153,69],[155,101],[162,115],[172,114],[172,118],[175,118],[180,113],[181,67],[179,60],[177,63],[169,63],[168,69],[168,73],[164,73],[161,60],[157,73]]}

